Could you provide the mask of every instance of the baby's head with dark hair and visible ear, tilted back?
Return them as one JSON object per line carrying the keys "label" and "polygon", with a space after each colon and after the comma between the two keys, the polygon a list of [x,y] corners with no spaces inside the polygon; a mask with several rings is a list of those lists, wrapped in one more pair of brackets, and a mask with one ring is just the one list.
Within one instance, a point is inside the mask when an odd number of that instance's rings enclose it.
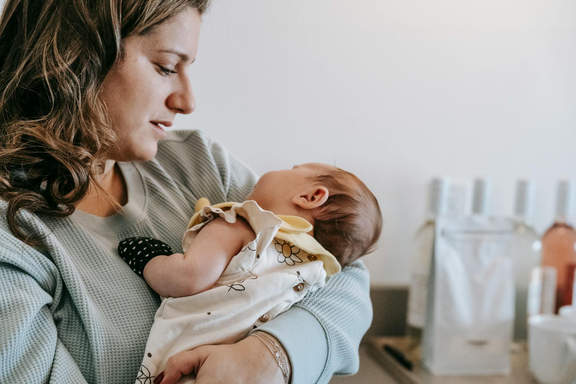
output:
{"label": "baby's head with dark hair and visible ear, tilted back", "polygon": [[312,223],[312,235],[345,267],[374,250],[382,229],[376,197],[335,166],[308,163],[263,174],[247,200],[264,210]]}

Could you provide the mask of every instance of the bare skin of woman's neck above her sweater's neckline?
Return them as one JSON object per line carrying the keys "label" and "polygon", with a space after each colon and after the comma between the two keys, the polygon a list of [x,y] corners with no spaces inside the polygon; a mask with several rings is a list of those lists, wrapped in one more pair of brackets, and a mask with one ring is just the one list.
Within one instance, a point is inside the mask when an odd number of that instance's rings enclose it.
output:
{"label": "bare skin of woman's neck above her sweater's neckline", "polygon": [[[99,174],[97,179],[98,184],[104,191],[110,193],[121,206],[126,205],[128,202],[128,188],[116,161],[107,160],[104,172]],[[76,205],[76,209],[100,217],[108,217],[116,213],[115,206],[105,199],[92,183],[90,183],[90,188],[84,199]]]}

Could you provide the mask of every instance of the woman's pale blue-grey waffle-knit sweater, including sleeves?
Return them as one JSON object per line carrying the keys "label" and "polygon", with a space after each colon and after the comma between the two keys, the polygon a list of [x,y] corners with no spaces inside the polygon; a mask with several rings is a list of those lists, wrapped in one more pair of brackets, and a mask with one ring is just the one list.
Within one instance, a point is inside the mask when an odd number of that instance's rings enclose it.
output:
{"label": "woman's pale blue-grey waffle-knit sweater, including sleeves", "polygon": [[[119,163],[128,203],[108,218],[77,211],[18,219],[47,234],[38,252],[13,237],[0,200],[0,383],[134,380],[160,298],[118,256],[120,240],[161,239],[175,252],[199,197],[244,201],[256,175],[199,131],[170,131],[156,158]],[[285,347],[292,383],[327,383],[358,370],[372,321],[361,261],[260,327]]]}

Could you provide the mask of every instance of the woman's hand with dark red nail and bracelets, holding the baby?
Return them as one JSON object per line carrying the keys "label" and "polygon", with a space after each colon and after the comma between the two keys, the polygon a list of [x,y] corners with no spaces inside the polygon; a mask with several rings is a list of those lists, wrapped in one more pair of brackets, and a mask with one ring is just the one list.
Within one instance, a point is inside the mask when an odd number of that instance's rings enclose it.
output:
{"label": "woman's hand with dark red nail and bracelets, holding the baby", "polygon": [[[288,360],[286,351],[281,349]],[[236,344],[202,345],[176,353],[168,359],[162,373],[164,378],[159,374],[154,384],[173,384],[183,375],[190,374],[196,374],[196,384],[284,384],[278,362],[266,345],[254,336]]]}

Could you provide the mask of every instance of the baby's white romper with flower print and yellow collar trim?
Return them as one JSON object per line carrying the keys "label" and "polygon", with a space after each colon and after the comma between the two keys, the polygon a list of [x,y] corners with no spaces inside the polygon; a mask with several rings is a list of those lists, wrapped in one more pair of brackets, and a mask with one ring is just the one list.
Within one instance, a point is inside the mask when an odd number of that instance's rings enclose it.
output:
{"label": "baby's white romper with flower print and yellow collar trim", "polygon": [[[230,223],[236,221],[236,215],[242,216],[256,238],[232,258],[210,290],[181,298],[163,298],[154,316],[137,384],[150,384],[164,369],[166,360],[178,352],[204,344],[236,343],[257,326],[288,310],[306,293],[323,287],[327,272],[330,276],[340,271],[336,258],[304,233],[311,229],[308,222],[295,216],[280,216],[293,220],[287,223],[262,210],[255,201],[200,209],[184,234],[184,252],[214,215]],[[301,226],[301,222],[309,227]],[[306,237],[306,241],[298,237]],[[298,248],[294,242],[314,254]],[[179,381],[194,382],[191,376]]]}

